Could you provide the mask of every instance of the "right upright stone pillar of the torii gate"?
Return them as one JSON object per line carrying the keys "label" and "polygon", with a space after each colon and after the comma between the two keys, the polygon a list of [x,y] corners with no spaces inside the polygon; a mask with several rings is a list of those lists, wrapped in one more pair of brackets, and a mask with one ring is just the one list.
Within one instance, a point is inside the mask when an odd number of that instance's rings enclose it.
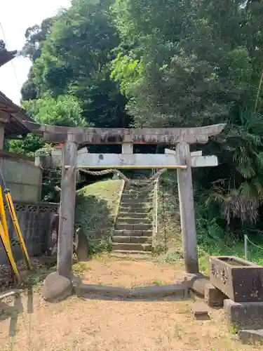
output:
{"label": "right upright stone pillar of the torii gate", "polygon": [[186,169],[177,169],[184,267],[187,273],[198,273],[196,217],[194,211],[194,192],[191,178],[191,154],[189,144],[184,141],[178,143],[176,152],[180,164],[187,165]]}

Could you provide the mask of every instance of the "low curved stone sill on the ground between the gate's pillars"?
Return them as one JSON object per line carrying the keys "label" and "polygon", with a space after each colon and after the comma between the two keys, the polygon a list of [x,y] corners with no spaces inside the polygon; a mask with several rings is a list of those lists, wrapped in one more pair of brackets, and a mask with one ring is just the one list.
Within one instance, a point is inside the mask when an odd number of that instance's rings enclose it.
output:
{"label": "low curved stone sill on the ground between the gate's pillars", "polygon": [[142,286],[140,288],[126,289],[118,286],[102,286],[96,284],[80,284],[76,287],[78,296],[87,293],[107,297],[133,298],[165,298],[168,296],[184,297],[183,284],[170,284],[163,286]]}

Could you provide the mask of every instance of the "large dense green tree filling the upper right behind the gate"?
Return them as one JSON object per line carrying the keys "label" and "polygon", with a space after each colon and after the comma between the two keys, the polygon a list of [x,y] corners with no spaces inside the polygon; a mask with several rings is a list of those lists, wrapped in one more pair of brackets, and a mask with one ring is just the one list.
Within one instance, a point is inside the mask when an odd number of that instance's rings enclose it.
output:
{"label": "large dense green tree filling the upper right behind the gate", "polygon": [[[211,124],[249,106],[262,68],[252,57],[249,32],[257,26],[248,12],[238,0],[116,0],[116,27],[132,48],[112,77],[128,88],[135,125]],[[140,76],[123,74],[137,60]]]}

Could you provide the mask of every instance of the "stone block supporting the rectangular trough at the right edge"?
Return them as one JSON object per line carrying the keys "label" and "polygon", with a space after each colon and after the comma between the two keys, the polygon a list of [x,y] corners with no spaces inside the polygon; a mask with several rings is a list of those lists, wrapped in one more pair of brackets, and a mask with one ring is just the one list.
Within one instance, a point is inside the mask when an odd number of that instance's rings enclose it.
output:
{"label": "stone block supporting the rectangular trough at the right edge", "polygon": [[238,330],[263,329],[263,303],[236,303],[224,300],[227,325]]}

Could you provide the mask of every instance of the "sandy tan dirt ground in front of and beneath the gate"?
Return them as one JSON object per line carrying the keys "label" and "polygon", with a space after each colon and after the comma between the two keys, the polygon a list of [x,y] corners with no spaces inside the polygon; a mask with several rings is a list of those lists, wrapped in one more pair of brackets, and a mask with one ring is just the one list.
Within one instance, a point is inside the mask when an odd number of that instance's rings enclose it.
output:
{"label": "sandy tan dirt ground in front of and beneath the gate", "polygon": [[[180,268],[149,261],[108,258],[78,263],[86,282],[118,286],[173,283]],[[227,331],[223,310],[210,309],[210,320],[197,321],[191,300],[127,301],[72,296],[46,303],[39,286],[14,304],[18,313],[0,317],[1,351],[245,351]]]}

